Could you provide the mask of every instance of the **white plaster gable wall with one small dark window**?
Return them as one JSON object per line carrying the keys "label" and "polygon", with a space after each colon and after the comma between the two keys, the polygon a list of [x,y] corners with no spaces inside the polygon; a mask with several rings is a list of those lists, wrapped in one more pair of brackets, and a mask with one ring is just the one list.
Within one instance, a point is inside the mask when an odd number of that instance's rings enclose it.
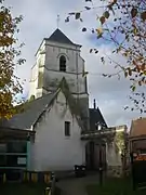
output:
{"label": "white plaster gable wall with one small dark window", "polygon": [[[32,167],[38,171],[70,170],[74,165],[85,161],[84,142],[80,140],[81,129],[72,118],[66,100],[59,92],[50,112],[36,128]],[[70,121],[70,136],[66,138],[64,122]]]}

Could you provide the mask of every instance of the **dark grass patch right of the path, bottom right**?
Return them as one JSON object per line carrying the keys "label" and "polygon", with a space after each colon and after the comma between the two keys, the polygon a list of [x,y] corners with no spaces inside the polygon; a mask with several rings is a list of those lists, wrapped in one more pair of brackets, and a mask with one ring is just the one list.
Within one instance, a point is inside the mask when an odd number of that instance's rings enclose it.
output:
{"label": "dark grass patch right of the path, bottom right", "polygon": [[107,179],[103,186],[91,184],[87,186],[88,195],[145,195],[146,191],[133,191],[130,180]]}

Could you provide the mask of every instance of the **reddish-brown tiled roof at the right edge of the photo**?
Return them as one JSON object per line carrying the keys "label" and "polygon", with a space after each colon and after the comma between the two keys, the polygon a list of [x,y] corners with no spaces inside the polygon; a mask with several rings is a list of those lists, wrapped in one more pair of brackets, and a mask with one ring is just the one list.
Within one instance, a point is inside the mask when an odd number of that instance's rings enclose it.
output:
{"label": "reddish-brown tiled roof at the right edge of the photo", "polygon": [[141,135],[146,135],[146,118],[138,118],[131,122],[130,136]]}

